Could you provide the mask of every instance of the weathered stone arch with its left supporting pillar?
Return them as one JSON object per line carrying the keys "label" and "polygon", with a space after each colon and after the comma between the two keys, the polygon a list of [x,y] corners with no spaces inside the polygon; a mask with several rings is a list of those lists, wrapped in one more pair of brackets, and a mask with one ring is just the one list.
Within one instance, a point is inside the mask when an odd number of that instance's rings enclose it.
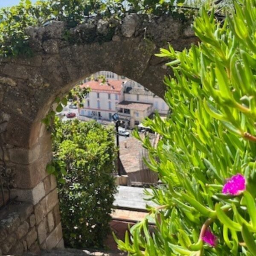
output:
{"label": "weathered stone arch with its left supporting pillar", "polygon": [[[55,97],[99,70],[127,76],[163,96],[166,60],[154,54],[167,43],[182,50],[196,38],[188,21],[145,15],[127,15],[117,23],[95,18],[68,30],[52,22],[26,32],[34,56],[0,59],[0,164],[15,174],[12,195],[34,206],[40,247],[51,249],[62,235],[55,178],[45,171],[51,138],[41,119]],[[54,215],[54,228],[40,231],[47,229],[40,225],[49,215]],[[46,235],[40,238],[40,232]]]}

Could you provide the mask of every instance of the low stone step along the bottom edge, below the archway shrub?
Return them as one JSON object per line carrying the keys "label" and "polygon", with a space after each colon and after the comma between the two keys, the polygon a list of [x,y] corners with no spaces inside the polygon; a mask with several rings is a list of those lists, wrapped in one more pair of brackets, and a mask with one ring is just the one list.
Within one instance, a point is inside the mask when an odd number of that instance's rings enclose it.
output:
{"label": "low stone step along the bottom edge, below the archway shrub", "polygon": [[[63,249],[63,250],[43,250],[41,256],[126,256],[127,253],[118,251],[99,251],[99,250],[77,250],[77,249]],[[26,253],[23,256],[36,256],[33,253]]]}

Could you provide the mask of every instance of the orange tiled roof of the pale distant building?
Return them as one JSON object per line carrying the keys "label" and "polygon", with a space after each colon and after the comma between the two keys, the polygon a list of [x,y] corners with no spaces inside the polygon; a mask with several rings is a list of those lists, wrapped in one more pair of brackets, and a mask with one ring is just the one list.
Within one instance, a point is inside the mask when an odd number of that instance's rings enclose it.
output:
{"label": "orange tiled roof of the pale distant building", "polygon": [[107,80],[105,84],[102,83],[102,80],[99,81],[89,81],[81,85],[81,87],[90,87],[92,91],[102,90],[102,91],[110,91],[110,92],[120,92],[123,87],[122,80]]}

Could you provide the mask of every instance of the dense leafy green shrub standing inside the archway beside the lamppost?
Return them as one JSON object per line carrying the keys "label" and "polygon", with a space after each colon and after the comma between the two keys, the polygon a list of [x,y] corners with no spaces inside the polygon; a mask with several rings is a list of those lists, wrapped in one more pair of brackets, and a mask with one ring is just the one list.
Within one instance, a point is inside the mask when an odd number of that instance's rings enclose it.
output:
{"label": "dense leafy green shrub standing inside the archway beside the lamppost", "polygon": [[97,122],[55,120],[54,160],[65,244],[102,247],[116,192],[113,129]]}

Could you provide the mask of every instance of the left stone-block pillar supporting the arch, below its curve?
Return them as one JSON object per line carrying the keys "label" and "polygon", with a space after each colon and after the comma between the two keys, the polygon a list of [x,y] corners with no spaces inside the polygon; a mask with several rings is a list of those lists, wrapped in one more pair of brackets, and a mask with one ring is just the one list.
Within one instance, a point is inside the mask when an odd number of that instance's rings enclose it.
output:
{"label": "left stone-block pillar supporting the arch, below its curve", "polygon": [[8,125],[2,137],[5,164],[13,174],[15,187],[11,190],[11,198],[32,204],[34,212],[26,246],[30,251],[63,248],[57,183],[55,176],[46,172],[47,163],[52,159],[51,134],[41,122],[33,123],[30,129],[30,124],[27,128],[22,124],[20,136],[26,133],[29,139],[26,143],[17,142],[17,137],[8,135],[12,131],[11,127],[8,130]]}

